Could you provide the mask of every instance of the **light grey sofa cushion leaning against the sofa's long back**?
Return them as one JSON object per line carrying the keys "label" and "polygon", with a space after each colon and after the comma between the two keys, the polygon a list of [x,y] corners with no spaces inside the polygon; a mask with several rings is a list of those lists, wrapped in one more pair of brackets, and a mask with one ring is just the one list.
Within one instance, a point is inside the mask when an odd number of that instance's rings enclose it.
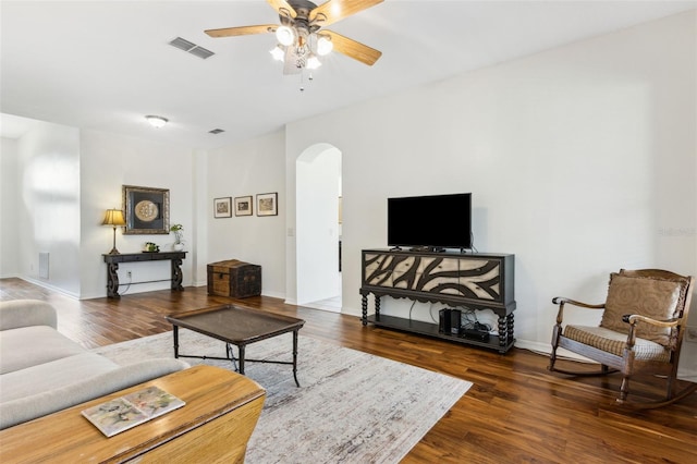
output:
{"label": "light grey sofa cushion leaning against the sofa's long back", "polygon": [[14,370],[0,376],[0,400],[4,403],[57,390],[118,367],[118,364],[98,354],[82,353]]}

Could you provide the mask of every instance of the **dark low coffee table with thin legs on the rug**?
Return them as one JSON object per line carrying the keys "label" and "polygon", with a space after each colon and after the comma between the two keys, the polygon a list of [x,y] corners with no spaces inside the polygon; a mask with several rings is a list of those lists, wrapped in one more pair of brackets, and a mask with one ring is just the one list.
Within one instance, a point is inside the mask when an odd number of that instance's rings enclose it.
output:
{"label": "dark low coffee table with thin legs on the rug", "polygon": [[[195,357],[199,359],[227,359],[235,365],[239,361],[240,374],[244,375],[245,362],[250,363],[272,363],[293,365],[293,378],[297,387],[297,332],[305,325],[303,319],[290,316],[282,316],[261,310],[241,308],[233,305],[216,306],[205,308],[194,314],[182,316],[168,316],[167,320],[174,327],[174,357]],[[198,333],[203,333],[225,343],[225,357],[198,356],[180,354],[179,352],[179,328],[183,327]],[[271,339],[282,333],[293,332],[293,362],[270,361],[270,359],[246,359],[245,347],[248,344],[261,340]],[[232,346],[237,346],[239,356],[235,358]]]}

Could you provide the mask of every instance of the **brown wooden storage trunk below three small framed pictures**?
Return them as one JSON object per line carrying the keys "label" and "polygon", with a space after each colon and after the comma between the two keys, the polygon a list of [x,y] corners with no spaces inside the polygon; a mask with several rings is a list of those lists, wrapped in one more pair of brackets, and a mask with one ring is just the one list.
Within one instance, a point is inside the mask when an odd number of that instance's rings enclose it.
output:
{"label": "brown wooden storage trunk below three small framed pictures", "polygon": [[261,266],[230,259],[208,265],[208,294],[244,298],[261,294]]}

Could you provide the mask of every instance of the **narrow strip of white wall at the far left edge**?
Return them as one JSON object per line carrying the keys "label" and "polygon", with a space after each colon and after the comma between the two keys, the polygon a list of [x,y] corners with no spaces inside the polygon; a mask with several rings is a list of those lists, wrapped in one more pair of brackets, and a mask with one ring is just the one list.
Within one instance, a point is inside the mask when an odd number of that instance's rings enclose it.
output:
{"label": "narrow strip of white wall at the far left edge", "polygon": [[20,274],[17,142],[0,138],[0,279]]}

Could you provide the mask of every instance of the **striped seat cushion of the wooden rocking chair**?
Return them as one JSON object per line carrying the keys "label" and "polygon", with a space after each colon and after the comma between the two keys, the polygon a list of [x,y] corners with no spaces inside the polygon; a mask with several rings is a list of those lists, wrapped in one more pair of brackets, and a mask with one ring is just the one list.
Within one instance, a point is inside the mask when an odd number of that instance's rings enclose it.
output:
{"label": "striped seat cushion of the wooden rocking chair", "polygon": [[[617,356],[623,355],[627,342],[626,333],[615,332],[603,327],[566,326],[564,337]],[[660,343],[636,338],[634,358],[669,363],[671,352]]]}

